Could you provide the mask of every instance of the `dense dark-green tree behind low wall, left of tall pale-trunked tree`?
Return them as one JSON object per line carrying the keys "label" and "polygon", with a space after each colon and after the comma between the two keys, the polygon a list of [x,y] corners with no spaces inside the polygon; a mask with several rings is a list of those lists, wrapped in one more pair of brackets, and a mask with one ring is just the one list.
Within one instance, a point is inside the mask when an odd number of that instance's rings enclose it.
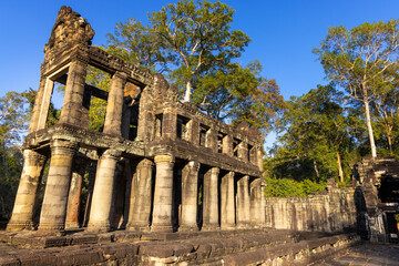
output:
{"label": "dense dark-green tree behind low wall, left of tall pale-trunked tree", "polygon": [[331,85],[291,98],[280,120],[284,135],[276,147],[276,170],[290,170],[296,178],[307,173],[303,178],[326,181],[339,176],[344,181],[342,155],[352,145],[357,120],[339,99],[341,93]]}

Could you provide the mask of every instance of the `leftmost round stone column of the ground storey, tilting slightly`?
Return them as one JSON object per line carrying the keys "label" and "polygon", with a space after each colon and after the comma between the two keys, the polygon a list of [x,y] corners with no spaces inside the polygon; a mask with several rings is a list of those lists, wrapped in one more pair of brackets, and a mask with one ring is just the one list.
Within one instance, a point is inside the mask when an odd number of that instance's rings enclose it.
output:
{"label": "leftmost round stone column of the ground storey, tilting slightly", "polygon": [[23,168],[18,186],[12,216],[7,225],[8,231],[33,229],[33,218],[38,197],[38,187],[45,156],[32,151],[23,151]]}

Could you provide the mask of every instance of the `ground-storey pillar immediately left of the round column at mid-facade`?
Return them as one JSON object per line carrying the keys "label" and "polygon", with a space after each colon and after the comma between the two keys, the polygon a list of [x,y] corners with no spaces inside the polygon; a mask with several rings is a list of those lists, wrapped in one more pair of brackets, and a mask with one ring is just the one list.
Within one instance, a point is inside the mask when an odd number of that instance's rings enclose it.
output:
{"label": "ground-storey pillar immediately left of the round column at mid-facade", "polygon": [[130,194],[127,229],[150,231],[153,166],[154,163],[147,158],[136,166]]}

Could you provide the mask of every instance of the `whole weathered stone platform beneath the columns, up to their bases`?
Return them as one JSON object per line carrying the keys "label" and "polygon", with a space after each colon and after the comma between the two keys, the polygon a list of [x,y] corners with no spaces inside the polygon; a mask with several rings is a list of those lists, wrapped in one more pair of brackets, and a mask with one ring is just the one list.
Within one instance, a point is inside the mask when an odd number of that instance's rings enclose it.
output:
{"label": "whole weathered stone platform beneath the columns, up to their bases", "polygon": [[0,265],[307,265],[358,243],[354,234],[242,229],[65,236],[0,233]]}

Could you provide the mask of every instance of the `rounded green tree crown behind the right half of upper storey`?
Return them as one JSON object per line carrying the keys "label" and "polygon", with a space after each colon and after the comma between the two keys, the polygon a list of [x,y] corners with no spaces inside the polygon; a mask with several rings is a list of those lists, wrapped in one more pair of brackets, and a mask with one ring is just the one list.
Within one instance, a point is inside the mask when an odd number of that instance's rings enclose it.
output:
{"label": "rounded green tree crown behind the right half of upper storey", "polygon": [[246,68],[232,63],[207,73],[198,79],[193,103],[219,121],[233,125],[245,121],[267,133],[285,101],[276,81],[259,76],[260,71],[260,63],[254,61]]}

